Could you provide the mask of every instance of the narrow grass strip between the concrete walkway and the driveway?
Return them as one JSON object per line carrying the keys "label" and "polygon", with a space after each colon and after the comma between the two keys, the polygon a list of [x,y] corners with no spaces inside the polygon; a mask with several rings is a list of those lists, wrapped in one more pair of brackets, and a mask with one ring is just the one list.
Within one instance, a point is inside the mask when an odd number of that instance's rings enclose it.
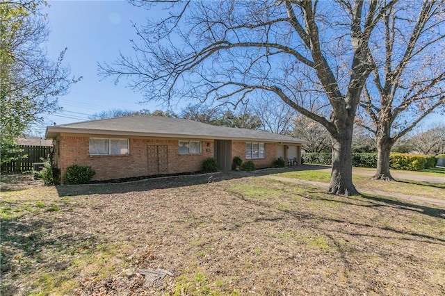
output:
{"label": "narrow grass strip between the concrete walkway and the driveway", "polygon": [[[276,174],[286,178],[330,182],[330,173],[319,171],[294,171]],[[429,183],[423,181],[399,180],[387,182],[372,180],[369,176],[353,175],[353,182],[357,188],[380,190],[385,192],[402,193],[435,199],[445,199],[445,183]]]}

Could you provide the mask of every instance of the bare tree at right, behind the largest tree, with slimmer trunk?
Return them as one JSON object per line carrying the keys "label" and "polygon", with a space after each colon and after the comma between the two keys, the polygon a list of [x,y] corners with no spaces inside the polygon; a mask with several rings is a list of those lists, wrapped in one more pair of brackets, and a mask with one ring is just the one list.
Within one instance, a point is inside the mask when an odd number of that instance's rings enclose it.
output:
{"label": "bare tree at right, behind the largest tree, with slimmer trunk", "polygon": [[400,1],[384,12],[371,38],[373,72],[361,107],[371,119],[378,162],[374,179],[392,180],[394,143],[445,104],[445,2]]}

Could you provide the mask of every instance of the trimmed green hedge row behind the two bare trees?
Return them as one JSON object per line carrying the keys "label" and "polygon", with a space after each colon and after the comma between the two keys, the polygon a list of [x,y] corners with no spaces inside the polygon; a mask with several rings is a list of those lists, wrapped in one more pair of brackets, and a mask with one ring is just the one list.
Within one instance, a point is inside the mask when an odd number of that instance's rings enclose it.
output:
{"label": "trimmed green hedge row behind the two bare trees", "polygon": [[[318,165],[330,165],[332,156],[330,153],[305,153],[302,155],[303,163],[316,163]],[[391,154],[389,166],[394,170],[419,171],[435,167],[437,158],[429,155],[415,154]],[[354,167],[377,167],[376,153],[353,153]]]}

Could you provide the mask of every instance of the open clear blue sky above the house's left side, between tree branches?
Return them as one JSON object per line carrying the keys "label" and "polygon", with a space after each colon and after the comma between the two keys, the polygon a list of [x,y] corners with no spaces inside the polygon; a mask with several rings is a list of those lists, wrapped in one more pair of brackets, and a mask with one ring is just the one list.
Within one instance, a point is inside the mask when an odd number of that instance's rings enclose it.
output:
{"label": "open clear blue sky above the house's left side, between tree branches", "polygon": [[44,13],[50,30],[44,44],[49,56],[55,60],[67,47],[65,65],[70,66],[72,75],[83,76],[68,94],[59,97],[63,111],[48,115],[45,124],[88,120],[88,115],[111,108],[161,108],[156,104],[138,104],[142,94],[125,88],[124,81],[114,85],[111,79],[100,81],[97,76],[98,62],[113,62],[119,51],[133,52],[129,40],[136,34],[131,22],[143,24],[156,13],[127,1],[49,1]]}

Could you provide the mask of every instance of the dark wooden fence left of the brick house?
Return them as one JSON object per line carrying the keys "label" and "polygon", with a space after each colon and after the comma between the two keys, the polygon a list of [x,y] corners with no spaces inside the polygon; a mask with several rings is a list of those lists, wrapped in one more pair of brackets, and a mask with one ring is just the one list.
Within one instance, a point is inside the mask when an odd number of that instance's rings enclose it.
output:
{"label": "dark wooden fence left of the brick house", "polygon": [[30,172],[33,170],[33,163],[42,163],[41,158],[48,158],[48,154],[51,154],[53,147],[20,145],[19,148],[22,151],[16,154],[18,157],[17,161],[3,163],[1,165],[1,174]]}

